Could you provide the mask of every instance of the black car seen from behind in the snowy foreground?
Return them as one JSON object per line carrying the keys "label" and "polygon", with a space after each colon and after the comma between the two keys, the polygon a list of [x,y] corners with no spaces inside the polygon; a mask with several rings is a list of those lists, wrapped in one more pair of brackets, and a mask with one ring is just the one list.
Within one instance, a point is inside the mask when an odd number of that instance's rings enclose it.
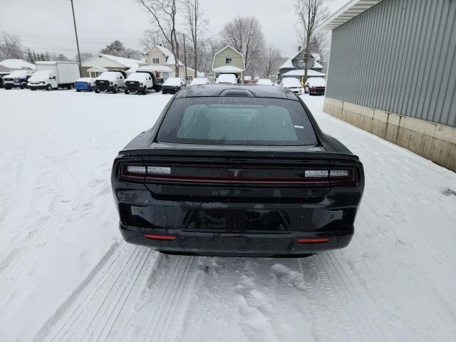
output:
{"label": "black car seen from behind in the snowy foreground", "polygon": [[115,158],[120,231],[171,254],[300,257],[346,247],[363,165],[291,90],[182,89]]}

